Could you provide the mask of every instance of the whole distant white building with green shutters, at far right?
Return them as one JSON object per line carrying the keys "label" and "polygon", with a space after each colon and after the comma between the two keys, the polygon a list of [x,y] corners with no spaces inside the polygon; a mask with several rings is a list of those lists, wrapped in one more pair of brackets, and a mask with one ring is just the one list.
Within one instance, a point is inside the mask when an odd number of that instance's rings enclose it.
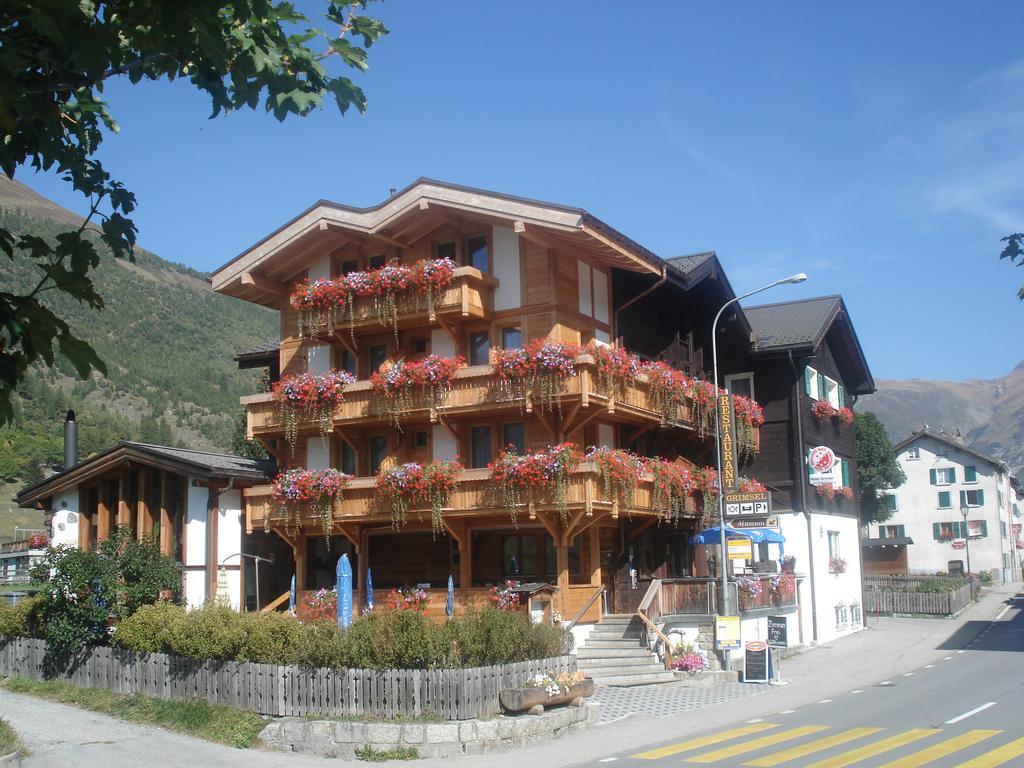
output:
{"label": "whole distant white building with green shutters, at far right", "polygon": [[888,492],[892,517],[871,523],[866,538],[905,543],[909,573],[966,572],[970,555],[972,572],[1020,581],[1024,550],[1009,467],[928,427],[895,449],[906,481]]}

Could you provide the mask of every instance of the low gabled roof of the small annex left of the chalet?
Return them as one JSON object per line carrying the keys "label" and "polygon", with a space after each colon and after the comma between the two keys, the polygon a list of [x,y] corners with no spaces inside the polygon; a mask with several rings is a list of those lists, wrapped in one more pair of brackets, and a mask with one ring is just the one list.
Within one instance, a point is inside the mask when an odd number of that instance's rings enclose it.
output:
{"label": "low gabled roof of the small annex left of the chalet", "polygon": [[262,482],[274,472],[274,463],[266,459],[245,459],[231,454],[152,445],[145,442],[119,442],[112,449],[57,472],[35,485],[23,488],[17,503],[28,506],[86,482],[123,465],[134,464],[166,469],[204,480],[240,479]]}

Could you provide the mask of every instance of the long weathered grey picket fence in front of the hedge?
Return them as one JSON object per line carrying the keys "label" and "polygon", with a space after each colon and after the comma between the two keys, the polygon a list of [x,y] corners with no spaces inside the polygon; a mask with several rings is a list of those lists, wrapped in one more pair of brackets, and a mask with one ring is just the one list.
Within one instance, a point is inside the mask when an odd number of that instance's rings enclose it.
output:
{"label": "long weathered grey picket fence in front of the hedge", "polygon": [[334,670],[105,647],[52,654],[45,640],[0,637],[0,675],[158,698],[199,698],[276,717],[490,717],[501,712],[501,690],[548,672],[575,672],[575,656],[452,670]]}

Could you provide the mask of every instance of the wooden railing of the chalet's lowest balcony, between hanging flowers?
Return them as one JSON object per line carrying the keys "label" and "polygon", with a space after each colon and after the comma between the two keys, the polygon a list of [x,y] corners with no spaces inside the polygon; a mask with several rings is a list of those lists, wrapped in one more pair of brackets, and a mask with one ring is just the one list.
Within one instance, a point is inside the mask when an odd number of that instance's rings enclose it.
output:
{"label": "wooden railing of the chalet's lowest balcony, between hanging flowers", "polygon": [[[246,527],[252,532],[270,525],[284,527],[286,517],[284,511],[278,509],[271,496],[270,485],[255,485],[247,488],[246,496]],[[632,503],[621,506],[617,501],[604,495],[604,482],[593,464],[581,464],[569,476],[566,488],[566,506],[571,516],[578,512],[610,512],[612,517],[620,514],[652,514],[658,512],[653,506],[653,487],[650,476],[641,479]],[[452,495],[449,506],[443,510],[445,518],[504,515],[509,519],[509,513],[502,505],[502,495],[490,479],[489,469],[467,469],[462,473],[458,489]],[[524,522],[531,513],[549,512],[555,508],[547,493],[538,493],[528,505],[516,509],[516,519]],[[686,512],[696,515],[696,503],[689,499]],[[413,509],[410,520],[417,518],[426,525],[430,522],[430,510],[426,507]],[[334,520],[343,523],[346,520],[360,522],[388,522],[390,511],[381,503],[377,493],[376,477],[353,478],[345,488],[343,497],[334,504]],[[511,520],[509,519],[509,524]],[[317,535],[321,531],[319,519],[310,514],[302,518],[303,531]]]}

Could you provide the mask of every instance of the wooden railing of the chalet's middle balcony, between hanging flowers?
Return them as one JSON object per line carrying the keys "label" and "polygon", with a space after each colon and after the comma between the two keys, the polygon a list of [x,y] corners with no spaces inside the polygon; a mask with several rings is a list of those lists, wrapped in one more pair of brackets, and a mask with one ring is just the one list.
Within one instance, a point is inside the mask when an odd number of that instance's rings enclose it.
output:
{"label": "wooden railing of the chalet's middle balcony, between hanging flowers", "polygon": [[[671,418],[666,418],[656,408],[650,393],[646,377],[639,377],[634,384],[627,385],[615,397],[601,387],[590,355],[578,358],[577,375],[569,377],[561,394],[563,420],[558,432],[562,436],[589,421],[599,413],[612,417],[620,423],[648,424],[658,427],[673,427],[695,431],[692,411],[686,403],[679,406]],[[278,437],[284,435],[285,426],[280,409],[269,394],[248,395],[242,398],[247,413],[247,434],[252,437]],[[479,419],[481,409],[486,414],[500,417],[516,413],[534,413],[539,403],[529,398],[507,399],[499,386],[493,366],[471,366],[461,369],[455,378],[452,391],[444,404],[436,412],[425,406],[417,406],[402,415],[406,424],[424,424],[436,421],[438,416],[446,419],[470,416]],[[340,429],[377,425],[385,422],[379,415],[373,388],[369,381],[359,381],[345,390],[345,401],[334,412],[334,424]],[[386,422],[385,422],[386,423]],[[317,425],[307,420],[300,425],[303,434],[315,434]],[[559,438],[553,434],[553,438]],[[759,447],[760,430],[754,430],[755,450]]]}

